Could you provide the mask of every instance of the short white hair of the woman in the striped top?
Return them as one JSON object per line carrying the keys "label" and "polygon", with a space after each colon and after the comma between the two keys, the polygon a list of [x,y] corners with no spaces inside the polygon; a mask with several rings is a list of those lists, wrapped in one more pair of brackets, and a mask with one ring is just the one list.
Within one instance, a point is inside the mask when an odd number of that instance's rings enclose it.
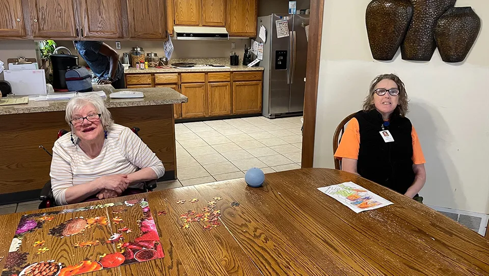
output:
{"label": "short white hair of the woman in the striped top", "polygon": [[70,121],[73,120],[73,114],[89,103],[95,107],[97,113],[102,114],[100,116],[100,122],[102,123],[104,129],[108,130],[114,123],[114,120],[112,120],[111,112],[108,111],[107,107],[105,107],[102,97],[94,93],[79,93],[77,96],[74,96],[68,101],[68,103],[66,104],[65,114],[66,122],[71,127]]}

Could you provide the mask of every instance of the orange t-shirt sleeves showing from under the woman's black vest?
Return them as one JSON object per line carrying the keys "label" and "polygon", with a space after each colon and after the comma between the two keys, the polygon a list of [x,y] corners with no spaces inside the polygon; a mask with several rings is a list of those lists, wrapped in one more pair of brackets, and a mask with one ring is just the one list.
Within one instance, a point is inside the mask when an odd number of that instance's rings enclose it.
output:
{"label": "orange t-shirt sleeves showing from under the woman's black vest", "polygon": [[[421,150],[421,145],[419,144],[418,134],[414,129],[411,131],[411,137],[413,138],[413,163],[424,164],[426,160],[424,159],[423,151]],[[338,149],[335,152],[335,158],[350,158],[358,160],[358,152],[360,150],[360,126],[356,118],[349,121],[345,128],[343,136],[341,136],[341,142]]]}

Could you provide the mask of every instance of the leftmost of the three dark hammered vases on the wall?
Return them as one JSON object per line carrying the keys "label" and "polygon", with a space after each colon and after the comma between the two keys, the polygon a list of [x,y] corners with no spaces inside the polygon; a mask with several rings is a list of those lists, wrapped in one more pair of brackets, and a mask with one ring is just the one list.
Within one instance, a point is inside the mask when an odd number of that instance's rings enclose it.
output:
{"label": "leftmost of the three dark hammered vases on the wall", "polygon": [[413,6],[409,0],[373,0],[368,4],[365,23],[375,60],[394,58],[412,17]]}

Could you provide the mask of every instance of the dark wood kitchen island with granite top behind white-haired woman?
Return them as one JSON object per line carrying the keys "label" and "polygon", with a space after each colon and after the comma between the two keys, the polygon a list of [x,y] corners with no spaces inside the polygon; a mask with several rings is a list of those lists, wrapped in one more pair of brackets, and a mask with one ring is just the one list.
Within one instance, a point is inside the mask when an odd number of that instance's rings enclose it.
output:
{"label": "dark wood kitchen island with granite top behind white-haired woman", "polygon": [[[141,91],[144,98],[111,99],[117,92],[111,85],[95,85],[104,91],[105,105],[114,122],[139,127],[139,136],[165,165],[160,180],[177,177],[175,121],[173,106],[187,97],[171,88],[126,89]],[[51,152],[60,129],[69,129],[65,121],[67,101],[30,101],[24,105],[0,107],[0,202],[8,204],[36,199],[49,180]]]}

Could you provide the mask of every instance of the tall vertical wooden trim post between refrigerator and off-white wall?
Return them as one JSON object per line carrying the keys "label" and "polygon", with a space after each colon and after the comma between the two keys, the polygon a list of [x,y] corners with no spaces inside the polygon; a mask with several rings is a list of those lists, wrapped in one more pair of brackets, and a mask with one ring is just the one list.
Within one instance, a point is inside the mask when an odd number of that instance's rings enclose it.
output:
{"label": "tall vertical wooden trim post between refrigerator and off-white wall", "polygon": [[316,132],[317,82],[321,53],[322,14],[324,0],[311,1],[309,45],[307,48],[306,91],[304,95],[304,130],[302,137],[302,168],[312,168]]}

